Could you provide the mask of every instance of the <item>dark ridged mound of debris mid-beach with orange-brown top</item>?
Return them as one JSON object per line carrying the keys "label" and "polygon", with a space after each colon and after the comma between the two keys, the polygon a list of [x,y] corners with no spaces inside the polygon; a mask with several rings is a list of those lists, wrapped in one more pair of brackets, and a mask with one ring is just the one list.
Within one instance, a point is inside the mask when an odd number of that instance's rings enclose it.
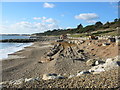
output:
{"label": "dark ridged mound of debris mid-beach with orange-brown top", "polygon": [[87,58],[84,50],[79,49],[77,45],[72,45],[67,42],[55,44],[47,54],[41,57],[40,61],[43,63],[57,60],[58,58],[71,58],[72,60],[84,61]]}

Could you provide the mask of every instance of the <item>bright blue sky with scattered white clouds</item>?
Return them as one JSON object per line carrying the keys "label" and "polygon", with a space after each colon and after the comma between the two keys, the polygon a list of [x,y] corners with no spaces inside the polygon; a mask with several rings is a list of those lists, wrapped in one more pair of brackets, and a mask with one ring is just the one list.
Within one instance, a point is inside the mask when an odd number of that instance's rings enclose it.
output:
{"label": "bright blue sky with scattered white clouds", "polygon": [[32,34],[106,23],[118,18],[117,2],[2,2],[2,34]]}

